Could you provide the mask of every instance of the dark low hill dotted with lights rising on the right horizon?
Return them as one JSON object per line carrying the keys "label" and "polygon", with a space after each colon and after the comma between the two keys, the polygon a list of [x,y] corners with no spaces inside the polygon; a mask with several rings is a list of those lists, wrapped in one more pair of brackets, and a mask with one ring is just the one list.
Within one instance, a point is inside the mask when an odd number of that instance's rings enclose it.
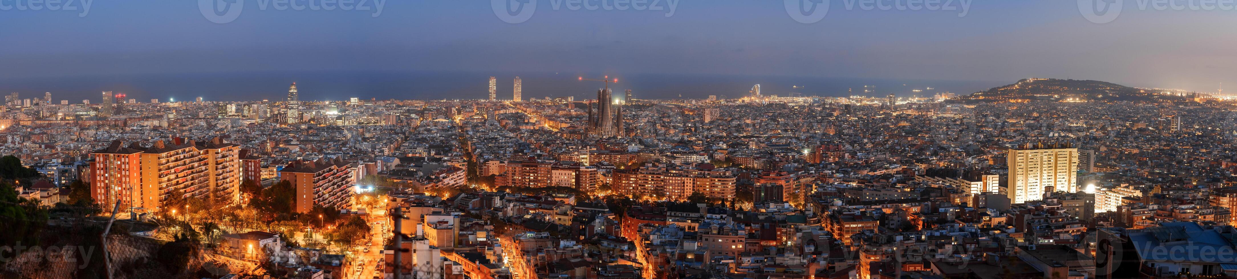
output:
{"label": "dark low hill dotted with lights rising on the right horizon", "polygon": [[960,99],[964,101],[1138,101],[1155,98],[1155,95],[1143,93],[1137,88],[1098,80],[1023,79],[1014,84],[992,88]]}

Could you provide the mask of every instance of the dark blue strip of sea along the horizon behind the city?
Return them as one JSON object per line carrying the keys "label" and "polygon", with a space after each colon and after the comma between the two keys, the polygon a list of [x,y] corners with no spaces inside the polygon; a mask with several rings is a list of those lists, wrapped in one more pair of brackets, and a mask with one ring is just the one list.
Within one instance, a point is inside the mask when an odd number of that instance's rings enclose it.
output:
{"label": "dark blue strip of sea along the horizon behind the city", "polygon": [[[600,81],[580,81],[579,77],[601,79],[601,73],[510,73],[510,72],[231,72],[183,74],[118,74],[56,78],[0,78],[0,94],[19,93],[21,99],[42,98],[52,93],[71,104],[90,99],[99,102],[100,91],[125,93],[146,102],[188,101],[202,96],[207,101],[282,100],[288,85],[297,83],[301,100],[400,99],[400,100],[469,100],[489,96],[489,79],[499,79],[499,99],[510,100],[512,79],[523,80],[523,96],[529,98],[595,98]],[[704,99],[741,98],[752,85],[761,84],[764,95],[788,96],[930,96],[936,91],[971,94],[1017,80],[899,80],[789,75],[714,75],[714,74],[626,74],[610,75],[616,93],[631,89],[637,99]],[[875,86],[863,93],[865,85]],[[795,89],[793,86],[802,86]],[[933,88],[929,90],[928,88]],[[923,90],[923,91],[913,91]]]}

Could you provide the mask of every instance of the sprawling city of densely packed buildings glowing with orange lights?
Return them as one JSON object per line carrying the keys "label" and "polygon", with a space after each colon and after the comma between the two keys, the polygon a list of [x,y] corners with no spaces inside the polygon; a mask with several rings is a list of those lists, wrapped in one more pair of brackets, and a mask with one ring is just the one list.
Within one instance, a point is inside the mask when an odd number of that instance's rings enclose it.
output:
{"label": "sprawling city of densely packed buildings glowing with orange lights", "polygon": [[[68,216],[115,210],[118,223],[142,227],[130,235],[169,243],[193,230],[213,247],[199,257],[277,263],[263,273],[878,278],[1001,270],[1009,265],[986,258],[1006,256],[1018,268],[1007,274],[1040,277],[1038,264],[1072,257],[1045,270],[1092,277],[1097,239],[1232,233],[1232,165],[1212,151],[1237,138],[1220,132],[1237,122],[1216,98],[909,101],[752,89],[622,101],[611,91],[302,101],[293,84],[278,102],[125,105],[110,101],[124,93],[105,93],[96,105],[9,104],[4,152],[31,172],[17,177],[30,202],[93,209],[56,211]],[[925,249],[954,242],[985,244]],[[847,253],[858,260],[846,264]],[[758,254],[787,258],[709,268]]]}

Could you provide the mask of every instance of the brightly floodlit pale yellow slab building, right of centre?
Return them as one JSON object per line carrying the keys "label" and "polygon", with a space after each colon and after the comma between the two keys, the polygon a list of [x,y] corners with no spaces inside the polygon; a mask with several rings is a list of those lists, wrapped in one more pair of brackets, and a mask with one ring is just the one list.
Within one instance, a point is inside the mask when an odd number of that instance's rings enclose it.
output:
{"label": "brightly floodlit pale yellow slab building, right of centre", "polygon": [[1008,153],[1009,202],[1044,199],[1044,193],[1076,193],[1079,148],[1069,143],[1023,143]]}

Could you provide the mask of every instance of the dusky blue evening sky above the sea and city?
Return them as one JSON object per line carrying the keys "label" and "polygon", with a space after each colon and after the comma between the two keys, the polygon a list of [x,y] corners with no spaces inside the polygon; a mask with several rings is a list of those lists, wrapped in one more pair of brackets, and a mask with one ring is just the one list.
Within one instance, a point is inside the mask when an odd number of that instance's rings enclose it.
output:
{"label": "dusky blue evening sky above the sea and city", "polygon": [[[220,73],[286,73],[285,79],[271,78],[271,88],[286,88],[288,79],[310,78],[287,74],[301,72],[494,72],[716,75],[740,77],[738,84],[748,81],[742,77],[962,80],[983,86],[1049,77],[1200,91],[1232,83],[1237,91],[1237,11],[1139,10],[1136,0],[1126,0],[1121,17],[1108,23],[1085,19],[1075,0],[975,1],[965,16],[960,10],[847,10],[852,0],[831,0],[828,16],[816,23],[797,22],[781,0],[682,0],[669,17],[667,10],[554,10],[559,0],[536,0],[538,9],[522,23],[502,21],[485,0],[383,0],[377,17],[374,10],[277,11],[260,9],[275,5],[270,0],[241,1],[242,12],[229,23],[209,21],[195,0],[92,1],[85,16],[79,16],[82,9],[0,10],[0,90],[75,95],[142,88],[136,85],[142,77]],[[100,75],[111,78],[57,84]],[[955,90],[964,89],[972,88]]]}

